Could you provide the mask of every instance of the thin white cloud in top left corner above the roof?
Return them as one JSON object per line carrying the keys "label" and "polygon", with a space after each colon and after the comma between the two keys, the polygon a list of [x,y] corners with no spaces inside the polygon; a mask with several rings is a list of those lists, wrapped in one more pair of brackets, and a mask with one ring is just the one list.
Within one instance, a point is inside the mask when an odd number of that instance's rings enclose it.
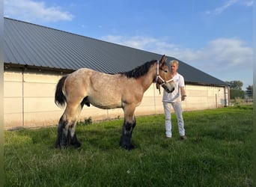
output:
{"label": "thin white cloud in top left corner above the roof", "polygon": [[4,16],[27,22],[70,21],[73,15],[61,7],[46,7],[43,1],[4,0]]}

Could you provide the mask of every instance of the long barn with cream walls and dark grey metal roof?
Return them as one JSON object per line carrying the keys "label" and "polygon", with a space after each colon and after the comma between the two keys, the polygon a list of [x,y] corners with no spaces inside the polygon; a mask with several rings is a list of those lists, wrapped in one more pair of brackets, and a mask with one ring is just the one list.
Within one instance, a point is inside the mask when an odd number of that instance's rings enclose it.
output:
{"label": "long barn with cream walls and dark grey metal roof", "polygon": [[[55,86],[66,73],[81,67],[119,73],[161,56],[4,18],[4,129],[56,125],[63,108],[55,105]],[[168,56],[168,61],[172,59],[176,58]],[[186,82],[184,111],[228,106],[229,87],[225,82],[183,61],[180,61],[179,72]],[[163,113],[162,93],[159,94],[155,87],[152,84],[144,93],[135,115]],[[80,120],[88,117],[92,120],[113,119],[123,117],[123,111],[121,108],[103,110],[91,106],[83,109]]]}

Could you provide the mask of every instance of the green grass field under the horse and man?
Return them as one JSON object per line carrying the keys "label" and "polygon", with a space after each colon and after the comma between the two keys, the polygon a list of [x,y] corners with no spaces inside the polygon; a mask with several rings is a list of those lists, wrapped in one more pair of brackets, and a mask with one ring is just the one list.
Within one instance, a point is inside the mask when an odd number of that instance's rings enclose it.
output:
{"label": "green grass field under the horse and man", "polygon": [[56,150],[56,127],[4,133],[4,186],[252,186],[252,105],[184,112],[186,136],[164,115],[137,117],[135,150],[122,119],[77,126],[78,150]]}

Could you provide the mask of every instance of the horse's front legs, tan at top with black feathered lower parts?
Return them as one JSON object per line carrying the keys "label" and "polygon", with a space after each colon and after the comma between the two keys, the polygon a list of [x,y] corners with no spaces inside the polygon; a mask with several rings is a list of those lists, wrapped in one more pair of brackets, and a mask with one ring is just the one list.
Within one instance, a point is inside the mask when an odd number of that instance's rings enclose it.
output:
{"label": "horse's front legs, tan at top with black feathered lower parts", "polygon": [[132,140],[132,130],[135,128],[136,119],[133,115],[135,111],[134,108],[124,109],[124,124],[123,124],[123,132],[121,135],[120,145],[126,150],[132,150],[134,146],[131,143]]}

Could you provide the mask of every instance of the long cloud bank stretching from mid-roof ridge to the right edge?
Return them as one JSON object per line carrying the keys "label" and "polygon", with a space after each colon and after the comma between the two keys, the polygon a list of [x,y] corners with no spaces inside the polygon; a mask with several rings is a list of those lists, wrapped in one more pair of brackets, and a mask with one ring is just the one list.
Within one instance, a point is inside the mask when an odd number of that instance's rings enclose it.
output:
{"label": "long cloud bank stretching from mid-roof ridge to the right edge", "polygon": [[230,68],[252,69],[252,47],[238,38],[217,38],[200,49],[189,49],[164,39],[153,37],[106,36],[103,40],[130,46],[135,49],[165,54],[192,64],[200,70],[230,70]]}

